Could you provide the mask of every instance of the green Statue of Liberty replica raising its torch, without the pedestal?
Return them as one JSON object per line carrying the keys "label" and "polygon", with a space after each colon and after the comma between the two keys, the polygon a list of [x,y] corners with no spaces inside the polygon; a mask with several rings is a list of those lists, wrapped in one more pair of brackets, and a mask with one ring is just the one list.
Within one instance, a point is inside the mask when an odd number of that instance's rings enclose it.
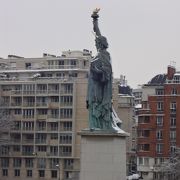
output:
{"label": "green Statue of Liberty replica raising its torch, without the pedestal", "polygon": [[101,35],[98,27],[99,10],[96,8],[91,15],[97,55],[91,61],[88,81],[89,127],[90,130],[113,131],[119,129],[117,124],[120,120],[112,108],[111,58],[107,51],[107,39]]}

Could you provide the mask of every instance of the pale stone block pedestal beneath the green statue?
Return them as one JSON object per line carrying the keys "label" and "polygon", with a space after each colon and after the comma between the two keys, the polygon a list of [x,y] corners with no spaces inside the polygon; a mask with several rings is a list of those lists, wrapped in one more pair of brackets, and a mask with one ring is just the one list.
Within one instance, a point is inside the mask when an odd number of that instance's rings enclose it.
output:
{"label": "pale stone block pedestal beneath the green statue", "polygon": [[126,133],[83,130],[79,134],[80,180],[126,179]]}

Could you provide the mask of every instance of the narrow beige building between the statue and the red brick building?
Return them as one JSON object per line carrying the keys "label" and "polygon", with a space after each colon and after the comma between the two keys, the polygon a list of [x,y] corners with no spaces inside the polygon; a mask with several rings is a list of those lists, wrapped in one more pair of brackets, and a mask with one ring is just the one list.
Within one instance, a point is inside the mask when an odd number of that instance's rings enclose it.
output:
{"label": "narrow beige building between the statue and the red brick building", "polygon": [[129,137],[126,137],[126,169],[127,174],[130,174],[136,169],[136,123],[134,96],[125,76],[121,75],[120,79],[114,80],[113,92],[113,105],[122,121],[121,128],[129,133]]}

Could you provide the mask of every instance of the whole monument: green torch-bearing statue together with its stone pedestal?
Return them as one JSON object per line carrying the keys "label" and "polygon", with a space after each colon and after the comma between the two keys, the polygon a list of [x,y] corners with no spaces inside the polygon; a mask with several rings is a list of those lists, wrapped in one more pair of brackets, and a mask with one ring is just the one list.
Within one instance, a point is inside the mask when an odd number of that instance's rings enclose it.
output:
{"label": "whole monument: green torch-bearing statue together with its stone pedestal", "polygon": [[80,180],[126,179],[126,137],[112,107],[112,66],[108,43],[98,27],[99,9],[91,15],[97,55],[91,60],[87,93],[89,128],[81,135]]}

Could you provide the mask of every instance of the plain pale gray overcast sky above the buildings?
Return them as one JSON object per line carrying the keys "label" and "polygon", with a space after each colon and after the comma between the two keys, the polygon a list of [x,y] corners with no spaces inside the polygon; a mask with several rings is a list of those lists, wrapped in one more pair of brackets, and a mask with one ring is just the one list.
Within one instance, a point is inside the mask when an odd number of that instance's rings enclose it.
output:
{"label": "plain pale gray overcast sky above the buildings", "polygon": [[91,12],[100,7],[99,26],[109,42],[115,77],[131,87],[180,70],[179,0],[0,0],[0,57],[41,57],[64,50],[96,54]]}

